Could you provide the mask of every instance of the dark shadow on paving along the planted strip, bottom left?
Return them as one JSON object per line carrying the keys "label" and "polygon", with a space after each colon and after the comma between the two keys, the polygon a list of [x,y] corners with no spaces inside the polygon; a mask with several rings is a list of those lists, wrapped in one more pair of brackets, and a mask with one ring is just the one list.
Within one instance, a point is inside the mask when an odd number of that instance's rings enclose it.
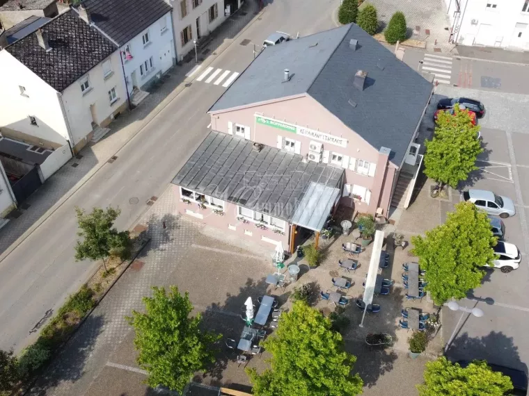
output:
{"label": "dark shadow on paving along the planted strip, bottom left", "polygon": [[74,383],[84,375],[87,358],[95,349],[95,342],[104,327],[102,316],[90,315],[77,333],[68,340],[52,361],[43,368],[29,390],[31,395],[47,395],[49,388],[61,383]]}

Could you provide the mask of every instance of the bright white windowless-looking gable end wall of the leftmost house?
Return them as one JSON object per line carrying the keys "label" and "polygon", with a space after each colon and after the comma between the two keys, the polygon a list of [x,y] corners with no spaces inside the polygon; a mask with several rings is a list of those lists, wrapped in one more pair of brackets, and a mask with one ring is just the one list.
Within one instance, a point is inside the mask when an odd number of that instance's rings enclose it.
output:
{"label": "bright white windowless-looking gable end wall of the leftmost house", "polygon": [[[0,128],[64,145],[68,131],[57,92],[8,51],[0,51]],[[26,90],[20,94],[19,85]],[[32,125],[29,116],[36,119]]]}

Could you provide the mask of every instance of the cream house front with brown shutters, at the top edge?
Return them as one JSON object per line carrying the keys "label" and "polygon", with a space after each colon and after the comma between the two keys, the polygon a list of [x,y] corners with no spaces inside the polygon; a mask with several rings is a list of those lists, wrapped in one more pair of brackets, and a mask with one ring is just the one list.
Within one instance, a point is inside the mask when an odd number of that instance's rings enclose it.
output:
{"label": "cream house front with brown shutters, at the top edge", "polygon": [[195,51],[195,42],[200,46],[201,40],[206,40],[206,36],[224,22],[225,0],[169,1],[173,5],[177,61],[181,62],[187,53]]}

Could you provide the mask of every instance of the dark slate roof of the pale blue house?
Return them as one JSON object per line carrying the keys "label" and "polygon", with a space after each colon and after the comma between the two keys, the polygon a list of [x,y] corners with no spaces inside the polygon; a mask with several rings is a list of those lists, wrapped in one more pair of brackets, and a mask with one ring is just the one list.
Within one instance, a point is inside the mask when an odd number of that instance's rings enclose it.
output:
{"label": "dark slate roof of the pale blue house", "polygon": [[85,0],[92,22],[120,46],[171,11],[164,0]]}

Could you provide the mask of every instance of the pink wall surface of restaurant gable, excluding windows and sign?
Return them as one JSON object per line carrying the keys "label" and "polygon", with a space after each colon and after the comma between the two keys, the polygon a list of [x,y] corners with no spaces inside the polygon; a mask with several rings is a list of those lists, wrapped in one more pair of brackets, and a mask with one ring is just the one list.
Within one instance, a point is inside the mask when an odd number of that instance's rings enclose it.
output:
{"label": "pink wall surface of restaurant gable, excluding windows and sign", "polygon": [[[371,192],[371,197],[369,204],[365,200],[358,201],[352,197],[343,197],[342,204],[354,206],[363,213],[374,213],[379,203],[381,203],[380,196],[384,196],[387,188],[391,189],[393,181],[388,187],[387,183],[384,182],[384,176],[386,167],[395,169],[395,165],[388,163],[387,156],[379,154],[380,147],[372,147],[360,135],[345,126],[340,119],[329,113],[328,110],[311,97],[294,97],[269,104],[261,104],[260,106],[239,108],[226,113],[212,113],[212,129],[228,133],[229,122],[234,123],[233,128],[235,128],[235,123],[241,124],[249,127],[250,140],[272,147],[278,147],[278,136],[281,136],[281,138],[292,138],[301,142],[299,154],[303,156],[308,154],[311,141],[320,142],[297,133],[260,124],[255,121],[256,115],[347,139],[346,147],[322,142],[323,150],[330,151],[329,156],[332,156],[333,152],[344,156],[345,162],[335,166],[345,169],[345,183],[366,188]],[[357,172],[358,160],[376,164],[374,176]],[[378,191],[377,195],[374,194],[375,190]],[[386,213],[386,208],[384,208],[384,213]]]}

